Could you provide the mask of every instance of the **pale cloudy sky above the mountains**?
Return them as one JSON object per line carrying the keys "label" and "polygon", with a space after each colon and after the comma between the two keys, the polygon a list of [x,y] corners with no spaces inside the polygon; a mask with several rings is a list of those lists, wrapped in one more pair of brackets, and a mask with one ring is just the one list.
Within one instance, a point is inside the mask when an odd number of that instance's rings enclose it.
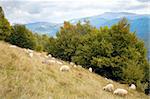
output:
{"label": "pale cloudy sky above the mountains", "polygon": [[0,0],[10,23],[63,21],[105,12],[150,14],[150,0]]}

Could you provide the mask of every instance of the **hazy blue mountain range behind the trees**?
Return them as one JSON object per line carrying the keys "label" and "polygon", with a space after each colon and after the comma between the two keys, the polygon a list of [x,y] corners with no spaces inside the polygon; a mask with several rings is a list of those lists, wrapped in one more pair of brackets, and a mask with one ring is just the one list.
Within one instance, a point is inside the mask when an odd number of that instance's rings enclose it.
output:
{"label": "hazy blue mountain range behind the trees", "polygon": [[[92,26],[97,28],[101,26],[111,27],[113,24],[116,24],[121,18],[127,18],[130,23],[131,32],[136,32],[137,36],[144,40],[145,45],[150,49],[150,15],[148,14],[135,14],[128,12],[105,12],[101,15],[72,19],[69,20],[70,23],[76,24],[78,21],[84,23],[85,20],[90,21]],[[55,36],[56,32],[59,31],[60,26],[63,23],[48,23],[48,22],[35,22],[25,24],[26,27],[36,33],[48,34],[49,36]]]}

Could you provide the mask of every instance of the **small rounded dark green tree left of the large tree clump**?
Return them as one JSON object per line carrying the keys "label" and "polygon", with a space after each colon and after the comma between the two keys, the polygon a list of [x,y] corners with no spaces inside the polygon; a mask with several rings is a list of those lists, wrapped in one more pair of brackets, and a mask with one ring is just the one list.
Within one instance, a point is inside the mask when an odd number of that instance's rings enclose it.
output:
{"label": "small rounded dark green tree left of the large tree clump", "polygon": [[13,33],[9,37],[11,44],[20,46],[22,48],[35,49],[36,41],[32,32],[30,32],[24,25],[14,25]]}

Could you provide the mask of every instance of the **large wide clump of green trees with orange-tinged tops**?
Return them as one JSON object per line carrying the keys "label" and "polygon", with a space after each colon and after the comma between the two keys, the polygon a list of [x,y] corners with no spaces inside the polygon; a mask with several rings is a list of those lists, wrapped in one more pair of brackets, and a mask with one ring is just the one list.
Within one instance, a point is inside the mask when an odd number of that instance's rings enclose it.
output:
{"label": "large wide clump of green trees with orange-tinged tops", "polygon": [[141,90],[141,85],[148,81],[144,42],[130,32],[125,18],[111,28],[100,29],[90,26],[89,22],[76,25],[65,22],[49,52],[85,68],[99,68],[98,74],[114,80],[136,83]]}

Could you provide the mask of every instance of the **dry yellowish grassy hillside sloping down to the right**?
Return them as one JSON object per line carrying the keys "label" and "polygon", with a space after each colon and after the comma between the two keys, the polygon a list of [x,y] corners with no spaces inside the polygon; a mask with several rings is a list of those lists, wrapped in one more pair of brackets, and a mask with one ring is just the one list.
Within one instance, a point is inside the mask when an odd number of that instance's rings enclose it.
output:
{"label": "dry yellowish grassy hillside sloping down to the right", "polygon": [[[29,57],[22,48],[0,42],[0,99],[148,99],[143,93],[125,88],[124,98],[102,90],[108,81],[80,67],[60,72],[57,63],[43,64],[44,53]],[[59,60],[61,61],[61,60]],[[63,64],[68,64],[63,62]]]}

